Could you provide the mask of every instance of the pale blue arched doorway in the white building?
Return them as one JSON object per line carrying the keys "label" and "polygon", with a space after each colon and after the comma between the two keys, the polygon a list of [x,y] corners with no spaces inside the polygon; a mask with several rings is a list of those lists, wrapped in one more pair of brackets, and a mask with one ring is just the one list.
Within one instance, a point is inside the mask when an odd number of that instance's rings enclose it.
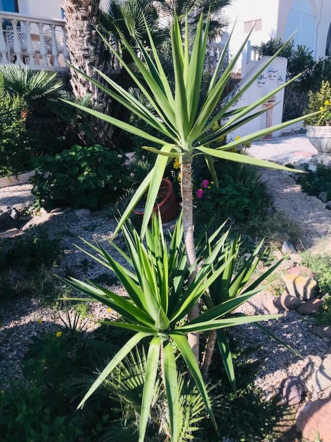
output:
{"label": "pale blue arched doorway in the white building", "polygon": [[316,15],[308,0],[295,0],[293,2],[287,17],[285,40],[297,29],[298,31],[293,37],[295,46],[305,45],[315,54]]}

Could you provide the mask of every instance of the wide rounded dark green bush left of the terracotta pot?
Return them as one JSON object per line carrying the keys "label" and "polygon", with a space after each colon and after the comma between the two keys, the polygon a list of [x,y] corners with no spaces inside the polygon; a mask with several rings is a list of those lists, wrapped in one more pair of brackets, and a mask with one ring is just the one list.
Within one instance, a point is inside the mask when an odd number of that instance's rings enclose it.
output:
{"label": "wide rounded dark green bush left of the terracotta pot", "polygon": [[124,158],[97,144],[34,159],[35,205],[95,209],[123,193]]}

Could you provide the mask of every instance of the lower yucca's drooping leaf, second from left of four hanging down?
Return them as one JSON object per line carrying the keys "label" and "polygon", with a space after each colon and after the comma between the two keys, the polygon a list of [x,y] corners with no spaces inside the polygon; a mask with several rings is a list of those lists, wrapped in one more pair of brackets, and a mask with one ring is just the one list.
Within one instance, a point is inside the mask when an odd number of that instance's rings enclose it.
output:
{"label": "lower yucca's drooping leaf, second from left of four hanging down", "polygon": [[158,359],[160,354],[161,337],[154,336],[150,343],[146,361],[146,374],[141,401],[141,414],[139,425],[139,442],[144,442],[147,428],[147,421],[150,416],[151,404],[153,400],[153,391],[155,386]]}

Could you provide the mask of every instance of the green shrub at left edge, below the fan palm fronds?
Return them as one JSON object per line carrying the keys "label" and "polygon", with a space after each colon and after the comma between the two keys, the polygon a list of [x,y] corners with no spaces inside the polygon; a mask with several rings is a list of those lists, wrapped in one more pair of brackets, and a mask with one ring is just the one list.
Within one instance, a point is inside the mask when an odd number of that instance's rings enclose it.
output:
{"label": "green shrub at left edge, below the fan palm fronds", "polygon": [[35,132],[27,127],[28,111],[23,98],[4,95],[0,110],[0,177],[29,169],[30,159],[44,152]]}

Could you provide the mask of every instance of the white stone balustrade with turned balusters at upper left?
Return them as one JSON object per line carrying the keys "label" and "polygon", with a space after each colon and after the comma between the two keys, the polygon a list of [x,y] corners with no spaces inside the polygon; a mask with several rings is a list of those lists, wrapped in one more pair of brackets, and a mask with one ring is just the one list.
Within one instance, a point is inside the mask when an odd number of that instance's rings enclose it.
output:
{"label": "white stone balustrade with turned balusters at upper left", "polygon": [[0,64],[31,69],[67,70],[64,20],[0,11]]}

